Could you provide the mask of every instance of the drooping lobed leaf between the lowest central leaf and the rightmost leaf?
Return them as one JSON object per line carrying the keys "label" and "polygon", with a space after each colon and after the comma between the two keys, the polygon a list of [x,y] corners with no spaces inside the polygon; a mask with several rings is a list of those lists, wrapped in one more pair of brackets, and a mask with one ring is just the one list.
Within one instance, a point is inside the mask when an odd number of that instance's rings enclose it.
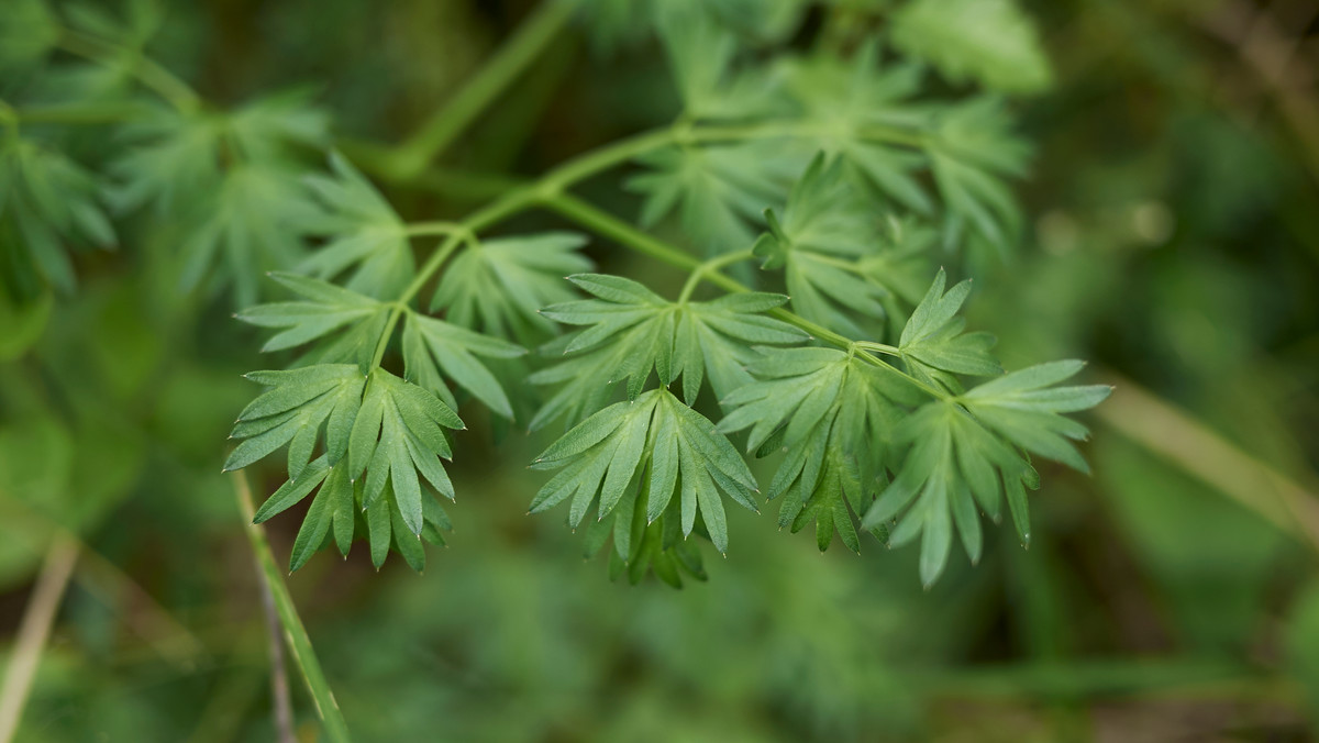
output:
{"label": "drooping lobed leaf between the lowest central leaf and the rightmost leaf", "polygon": [[892,368],[832,348],[766,350],[751,372],[758,381],[724,399],[733,410],[719,430],[751,429],[748,450],[770,441],[785,450],[766,494],[785,496],[780,525],[797,532],[815,517],[820,549],[834,529],[859,549],[848,505],[869,505],[890,430],[923,395]]}

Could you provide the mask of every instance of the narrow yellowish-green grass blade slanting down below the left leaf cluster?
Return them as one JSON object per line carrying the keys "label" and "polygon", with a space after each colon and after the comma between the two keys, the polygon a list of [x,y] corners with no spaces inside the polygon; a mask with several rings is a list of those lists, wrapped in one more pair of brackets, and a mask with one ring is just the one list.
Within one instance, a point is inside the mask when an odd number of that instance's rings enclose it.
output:
{"label": "narrow yellowish-green grass blade slanting down below the left leaf cluster", "polygon": [[317,655],[311,649],[311,637],[307,636],[307,630],[302,626],[302,618],[298,616],[298,610],[293,604],[293,597],[289,595],[289,586],[285,585],[284,574],[274,562],[270,542],[265,538],[265,531],[252,523],[252,517],[256,515],[256,509],[252,505],[252,488],[248,487],[247,476],[241,471],[233,472],[232,478],[233,495],[237,498],[239,511],[241,511],[243,517],[247,520],[248,540],[252,542],[252,553],[256,557],[257,570],[270,590],[274,611],[284,626],[284,639],[289,644],[293,660],[298,662],[298,669],[302,670],[302,678],[306,681],[307,692],[311,693],[311,699],[317,705],[317,714],[321,715],[326,738],[332,743],[347,743],[351,740],[348,723],[344,722],[343,713],[339,710],[339,702],[335,701],[334,692],[330,690],[330,684],[321,669],[321,661],[317,660]]}

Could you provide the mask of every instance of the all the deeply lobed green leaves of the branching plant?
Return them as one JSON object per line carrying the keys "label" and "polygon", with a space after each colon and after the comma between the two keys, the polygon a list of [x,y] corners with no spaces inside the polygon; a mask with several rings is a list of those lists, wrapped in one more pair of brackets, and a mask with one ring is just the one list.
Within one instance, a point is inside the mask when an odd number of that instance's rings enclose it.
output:
{"label": "all the deeply lobed green leaves of the branching plant", "polygon": [[[423,552],[408,536],[439,544],[448,528],[435,500],[454,498],[439,463],[452,455],[443,429],[464,428],[454,410],[470,396],[505,421],[529,414],[533,432],[565,422],[567,433],[538,459],[562,471],[532,509],[570,500],[575,528],[595,504],[587,541],[598,548],[613,534],[615,574],[625,569],[638,579],[649,566],[674,585],[679,569],[704,577],[685,540],[695,532],[727,550],[718,492],[756,509],[756,479],[724,438],[749,429],[751,451],[782,457],[766,491],[783,499],[780,524],[795,532],[814,520],[822,550],[836,532],[859,552],[856,521],[876,498],[884,507],[867,524],[888,538],[886,521],[925,486],[890,541],[925,533],[922,579],[933,583],[948,544],[944,501],[979,556],[979,527],[944,472],[951,453],[979,453],[962,457],[975,463],[968,478],[987,505],[993,496],[983,470],[992,463],[1024,509],[1013,490],[1029,470],[1024,451],[1083,466],[1063,443],[1083,429],[1057,413],[1101,399],[1050,408],[1046,393],[1021,387],[1042,372],[964,391],[967,377],[1001,373],[993,339],[963,331],[958,311],[969,282],[946,293],[940,269],[925,292],[938,243],[1005,251],[1014,242],[1021,215],[1002,178],[1022,174],[1028,148],[995,98],[922,100],[919,67],[881,65],[878,38],[851,54],[799,54],[787,46],[799,21],[794,8],[758,28],[740,24],[747,9],[638,5],[671,70],[675,123],[633,140],[640,144],[582,156],[539,187],[509,190],[456,222],[406,222],[340,152],[326,153],[328,172],[315,169],[310,156],[328,149],[330,125],[305,92],[222,110],[200,104],[154,63],[131,69],[164,100],[125,110],[100,186],[66,154],[28,140],[21,111],[8,113],[3,173],[13,195],[0,214],[13,224],[7,232],[24,238],[24,252],[8,249],[17,256],[11,263],[71,290],[61,236],[116,240],[96,205],[103,190],[117,214],[148,209],[150,219],[174,226],[168,234],[183,292],[230,285],[239,319],[276,330],[265,351],[302,350],[288,371],[249,375],[270,389],[239,416],[232,436],[241,442],[226,463],[245,468],[288,450],[288,479],[257,509],[259,521],[315,492],[294,569],[331,541],[347,554],[357,534],[377,566],[394,549],[419,569]],[[87,38],[70,37],[70,50],[94,62],[113,49],[140,53],[142,29],[157,25],[150,13],[127,25],[80,11],[73,17]],[[944,17],[959,24],[946,26]],[[972,13],[919,1],[893,20],[897,48],[951,79],[975,70],[1005,91],[1046,81],[1033,32],[1008,3]],[[583,236],[485,235],[629,160],[642,169],[627,181],[644,197],[641,228],[667,230],[675,218],[681,244],[653,248],[656,238],[625,223],[607,235],[690,269],[675,301],[633,278],[582,273]],[[426,235],[441,245],[418,264],[412,239]],[[765,269],[753,284],[786,294],[732,278],[752,278],[728,271],[752,257]],[[256,304],[268,271],[294,300]],[[17,296],[36,292],[36,278],[8,275],[25,286]],[[437,276],[422,311],[417,296]],[[725,294],[694,300],[703,282]],[[572,288],[590,298],[575,298]],[[555,337],[557,323],[576,330]],[[390,371],[398,356],[401,376]],[[554,356],[562,359],[541,360]],[[538,393],[520,377],[553,389]],[[714,406],[700,400],[707,379]],[[620,388],[624,401],[615,403]],[[1014,413],[1024,405],[1038,410]]]}

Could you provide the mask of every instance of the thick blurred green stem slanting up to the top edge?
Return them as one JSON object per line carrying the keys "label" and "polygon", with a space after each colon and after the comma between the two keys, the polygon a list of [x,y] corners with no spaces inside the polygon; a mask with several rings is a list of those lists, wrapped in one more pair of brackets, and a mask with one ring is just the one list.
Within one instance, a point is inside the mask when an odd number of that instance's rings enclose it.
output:
{"label": "thick blurred green stem slanting up to the top edge", "polygon": [[388,156],[388,168],[404,179],[421,174],[554,41],[575,8],[572,0],[541,3],[467,84]]}

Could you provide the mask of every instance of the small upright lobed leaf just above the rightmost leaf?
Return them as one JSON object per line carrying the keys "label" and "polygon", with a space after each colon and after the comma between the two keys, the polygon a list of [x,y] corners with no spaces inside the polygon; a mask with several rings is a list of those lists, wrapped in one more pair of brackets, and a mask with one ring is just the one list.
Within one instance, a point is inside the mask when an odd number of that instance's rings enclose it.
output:
{"label": "small upright lobed leaf just above the rightmost leaf", "polygon": [[913,375],[927,381],[938,380],[950,388],[955,383],[950,381],[947,373],[1001,373],[1002,368],[989,351],[995,344],[993,335],[963,333],[966,321],[958,317],[958,310],[971,293],[971,281],[963,281],[944,293],[946,284],[947,276],[940,268],[930,290],[902,329],[898,340],[902,360]]}

